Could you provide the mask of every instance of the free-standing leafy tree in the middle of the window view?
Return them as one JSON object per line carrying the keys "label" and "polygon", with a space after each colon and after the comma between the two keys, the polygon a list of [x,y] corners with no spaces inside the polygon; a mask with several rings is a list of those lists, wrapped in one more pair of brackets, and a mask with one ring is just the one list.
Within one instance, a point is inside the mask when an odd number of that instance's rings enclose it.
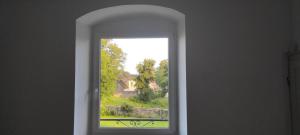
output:
{"label": "free-standing leafy tree in the middle of the window view", "polygon": [[135,78],[135,87],[138,90],[138,98],[141,101],[148,102],[153,98],[153,92],[149,88],[149,83],[155,78],[155,60],[144,59],[136,66],[138,76]]}

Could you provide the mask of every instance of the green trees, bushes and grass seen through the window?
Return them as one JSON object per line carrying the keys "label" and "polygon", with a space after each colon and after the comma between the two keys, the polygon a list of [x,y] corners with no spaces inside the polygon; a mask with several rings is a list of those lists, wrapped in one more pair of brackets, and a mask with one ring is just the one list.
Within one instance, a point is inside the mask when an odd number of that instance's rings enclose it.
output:
{"label": "green trees, bushes and grass seen through the window", "polygon": [[[123,98],[113,95],[117,89],[118,77],[126,72],[123,69],[126,54],[110,39],[101,39],[100,59],[101,118],[150,117],[134,114],[138,108],[168,110],[169,104],[166,97],[169,83],[168,60],[161,61],[158,68],[154,67],[155,60],[153,59],[145,59],[139,63],[136,66],[138,75],[134,76],[136,96]],[[150,88],[151,82],[155,82],[159,86],[157,90]],[[114,112],[116,110],[117,112]],[[167,116],[164,117],[167,118]],[[104,125],[109,125],[109,123],[105,122]]]}

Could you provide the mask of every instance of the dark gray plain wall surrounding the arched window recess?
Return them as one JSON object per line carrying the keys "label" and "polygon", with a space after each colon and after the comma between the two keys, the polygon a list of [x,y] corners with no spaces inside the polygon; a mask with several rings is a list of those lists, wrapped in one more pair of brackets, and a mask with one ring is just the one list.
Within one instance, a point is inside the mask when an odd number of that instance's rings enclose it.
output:
{"label": "dark gray plain wall surrounding the arched window recess", "polygon": [[186,14],[190,135],[289,134],[286,0],[2,0],[2,135],[73,134],[75,19],[130,3]]}

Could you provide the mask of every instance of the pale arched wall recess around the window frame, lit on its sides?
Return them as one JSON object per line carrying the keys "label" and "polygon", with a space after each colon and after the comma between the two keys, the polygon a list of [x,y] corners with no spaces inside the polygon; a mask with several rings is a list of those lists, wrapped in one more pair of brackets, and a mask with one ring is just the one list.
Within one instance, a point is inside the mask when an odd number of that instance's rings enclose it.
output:
{"label": "pale arched wall recess around the window frame, lit on its sides", "polygon": [[[162,18],[163,20],[169,20],[174,23],[174,77],[176,80],[173,82],[174,88],[176,88],[176,107],[173,111],[178,112],[176,117],[176,123],[172,126],[168,134],[187,134],[187,114],[186,114],[186,68],[185,68],[185,16],[184,14],[161,6],[154,5],[122,5],[104,8],[90,12],[76,20],[76,64],[75,64],[75,111],[74,111],[74,134],[86,135],[98,133],[95,132],[97,125],[97,117],[95,117],[93,106],[97,102],[97,88],[95,87],[94,80],[94,38],[95,30],[101,31],[105,36],[151,36],[152,33],[140,29],[122,29],[122,31],[114,31],[113,27],[105,25],[101,27],[101,24],[108,24],[110,22],[115,23],[115,26],[122,26],[122,18],[141,18],[141,17],[154,17]],[[121,18],[121,19],[120,19]],[[150,23],[149,23],[150,24]],[[163,23],[161,23],[163,24]],[[160,22],[158,22],[159,26]],[[125,26],[125,25],[124,25]],[[166,25],[161,25],[161,29],[164,29]],[[126,25],[128,28],[128,25]],[[149,26],[151,27],[151,26]],[[130,26],[129,26],[130,28]],[[130,33],[130,34],[129,34]],[[150,34],[149,34],[150,33]],[[117,35],[119,34],[119,35]],[[157,33],[156,35],[163,35]],[[179,111],[180,110],[180,111]],[[102,132],[102,131],[101,131]],[[128,133],[132,134],[135,131]],[[153,134],[153,131],[150,131]],[[109,132],[108,132],[109,133]],[[160,131],[157,132],[159,134]],[[117,134],[117,133],[112,133]],[[123,133],[124,134],[124,133]],[[145,133],[147,134],[147,133]]]}

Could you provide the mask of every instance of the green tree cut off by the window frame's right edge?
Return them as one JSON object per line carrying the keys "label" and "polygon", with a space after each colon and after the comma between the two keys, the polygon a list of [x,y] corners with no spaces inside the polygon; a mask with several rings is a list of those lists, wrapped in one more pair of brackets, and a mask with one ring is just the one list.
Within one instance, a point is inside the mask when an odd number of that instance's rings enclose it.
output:
{"label": "green tree cut off by the window frame's right edge", "polygon": [[169,64],[168,60],[162,60],[155,72],[155,80],[161,89],[161,97],[165,97],[169,88]]}

